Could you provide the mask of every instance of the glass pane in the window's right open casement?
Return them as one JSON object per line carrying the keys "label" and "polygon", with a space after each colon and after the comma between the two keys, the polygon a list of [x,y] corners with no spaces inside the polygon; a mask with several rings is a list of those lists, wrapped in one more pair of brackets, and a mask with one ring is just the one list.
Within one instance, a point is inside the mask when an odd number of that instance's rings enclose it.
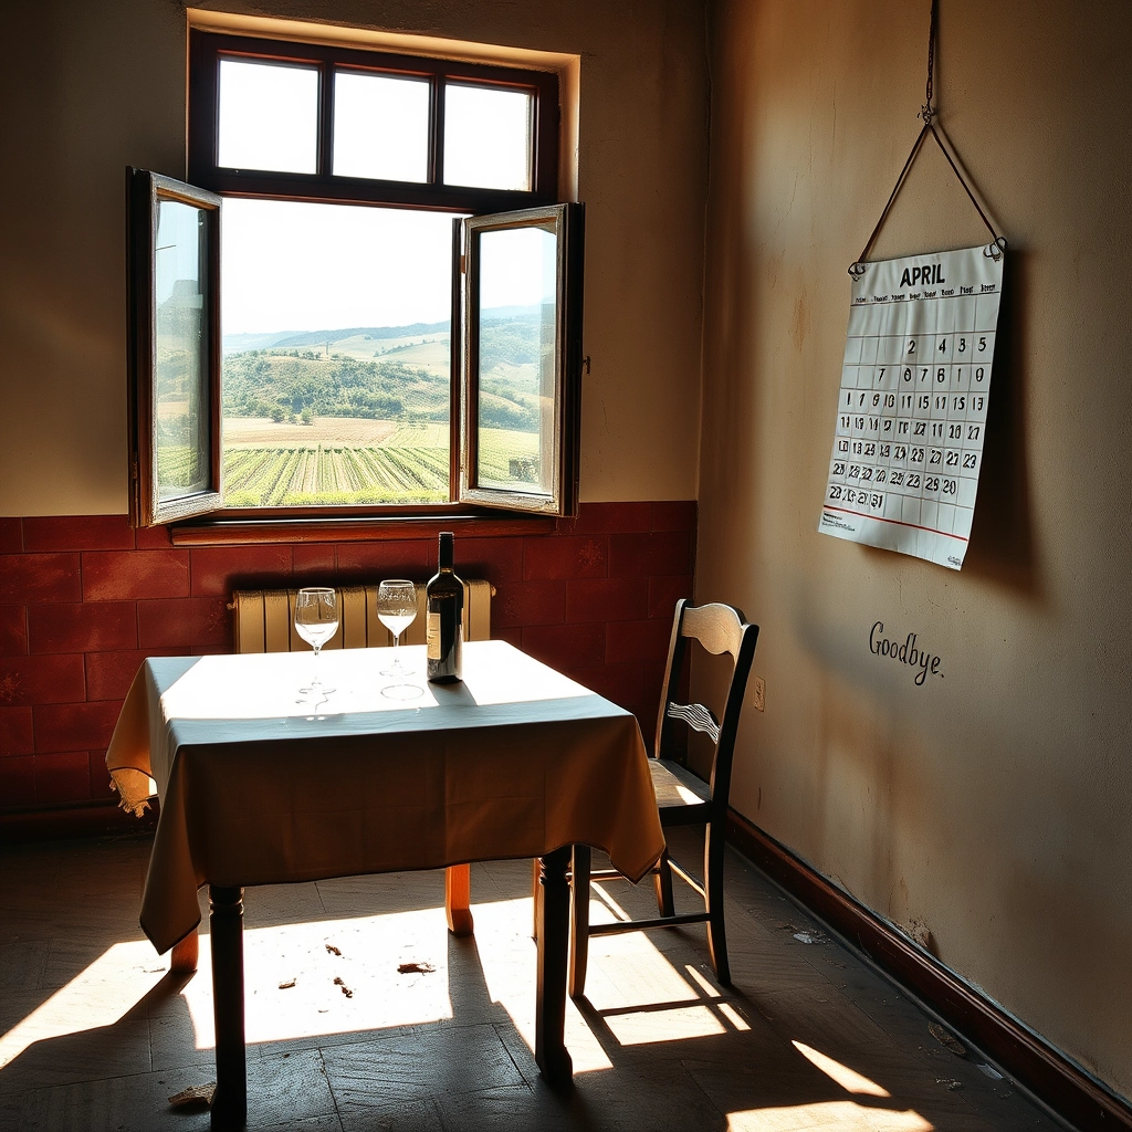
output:
{"label": "glass pane in the window's right open casement", "polygon": [[480,235],[480,487],[554,487],[557,251],[552,222]]}

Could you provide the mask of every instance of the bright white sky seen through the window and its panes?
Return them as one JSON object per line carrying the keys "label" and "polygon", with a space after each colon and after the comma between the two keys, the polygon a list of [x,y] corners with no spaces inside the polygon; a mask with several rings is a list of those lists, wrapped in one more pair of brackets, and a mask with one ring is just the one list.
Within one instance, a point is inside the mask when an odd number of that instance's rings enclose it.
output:
{"label": "bright white sky seen through the window and its panes", "polygon": [[[424,180],[429,85],[345,70],[335,72],[334,83],[334,172]],[[530,95],[449,82],[444,98],[446,181],[528,188]],[[221,165],[314,172],[318,76],[310,67],[225,59]],[[452,224],[449,213],[226,198],[223,333],[445,320],[452,303]],[[186,242],[182,251],[166,254],[166,265],[169,257],[195,258],[188,229]],[[486,235],[481,288],[482,307],[530,306],[546,293],[552,297],[554,240],[534,230]]]}

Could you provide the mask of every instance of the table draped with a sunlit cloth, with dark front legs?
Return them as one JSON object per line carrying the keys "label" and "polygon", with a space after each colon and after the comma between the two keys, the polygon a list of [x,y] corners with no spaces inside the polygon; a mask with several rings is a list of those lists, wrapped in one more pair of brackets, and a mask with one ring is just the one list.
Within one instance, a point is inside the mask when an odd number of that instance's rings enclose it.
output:
{"label": "table draped with a sunlit cloth, with dark front legs", "polygon": [[[423,646],[400,653],[423,674]],[[140,916],[158,952],[195,938],[209,886],[214,1127],[247,1114],[246,885],[540,858],[535,1060],[563,1083],[572,846],[631,880],[663,850],[632,714],[503,641],[465,643],[463,683],[393,701],[389,657],[321,654],[317,710],[295,702],[310,654],[155,658],[122,705],[106,765],[126,800],[151,777],[161,799]]]}

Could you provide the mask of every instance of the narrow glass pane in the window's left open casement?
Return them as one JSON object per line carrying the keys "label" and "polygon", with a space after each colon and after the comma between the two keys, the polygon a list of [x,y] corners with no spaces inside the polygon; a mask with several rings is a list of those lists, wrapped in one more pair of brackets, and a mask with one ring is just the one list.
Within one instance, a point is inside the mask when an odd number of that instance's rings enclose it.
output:
{"label": "narrow glass pane in the window's left open casement", "polygon": [[162,200],[157,213],[157,338],[154,428],[157,496],[206,491],[208,482],[208,336],[206,213]]}

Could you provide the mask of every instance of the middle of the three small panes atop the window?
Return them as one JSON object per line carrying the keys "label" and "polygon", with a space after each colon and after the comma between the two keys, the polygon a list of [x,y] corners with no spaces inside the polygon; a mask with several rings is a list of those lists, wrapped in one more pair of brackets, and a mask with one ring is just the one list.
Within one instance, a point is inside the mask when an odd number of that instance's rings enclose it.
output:
{"label": "middle of the three small panes atop the window", "polygon": [[334,75],[334,173],[428,180],[428,79]]}

